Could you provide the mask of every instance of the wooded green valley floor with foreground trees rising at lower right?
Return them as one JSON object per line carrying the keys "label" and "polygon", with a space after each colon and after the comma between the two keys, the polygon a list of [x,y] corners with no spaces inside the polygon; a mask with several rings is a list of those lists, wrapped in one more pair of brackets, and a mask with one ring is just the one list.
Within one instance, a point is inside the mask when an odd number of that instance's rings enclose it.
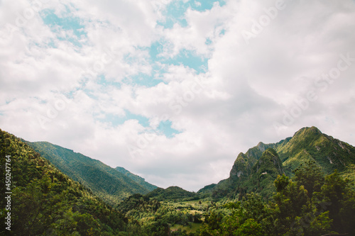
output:
{"label": "wooded green valley floor with foreground trees rising at lower right", "polygon": [[[355,235],[355,191],[337,171],[324,175],[315,162],[295,170],[293,179],[279,175],[265,200],[247,193],[241,200],[179,198],[157,201],[135,194],[119,205],[128,218],[152,235]],[[159,196],[161,196],[160,193]]]}

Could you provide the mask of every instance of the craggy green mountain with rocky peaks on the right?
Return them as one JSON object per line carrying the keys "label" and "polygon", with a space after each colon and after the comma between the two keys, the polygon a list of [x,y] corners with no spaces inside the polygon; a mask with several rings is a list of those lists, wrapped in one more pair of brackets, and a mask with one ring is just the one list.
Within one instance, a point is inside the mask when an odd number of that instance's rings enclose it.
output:
{"label": "craggy green mountain with rocky peaks on the right", "polygon": [[355,182],[355,147],[323,134],[318,128],[302,128],[293,137],[277,143],[259,142],[245,154],[239,153],[228,179],[199,193],[223,196],[244,196],[251,191],[268,197],[278,174],[293,176],[302,163],[315,162],[324,174],[335,169]]}

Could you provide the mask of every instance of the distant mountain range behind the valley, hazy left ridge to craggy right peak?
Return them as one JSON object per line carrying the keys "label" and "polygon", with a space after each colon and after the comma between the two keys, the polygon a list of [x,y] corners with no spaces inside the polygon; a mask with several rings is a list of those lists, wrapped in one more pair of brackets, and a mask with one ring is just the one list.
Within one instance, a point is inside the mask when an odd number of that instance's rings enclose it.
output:
{"label": "distant mountain range behind the valley, hazy left ridge to craggy right peak", "polygon": [[151,198],[241,198],[256,192],[268,198],[275,191],[273,181],[278,175],[293,176],[293,171],[305,162],[315,162],[324,174],[335,169],[355,183],[355,147],[323,134],[315,127],[302,128],[293,137],[280,142],[259,142],[245,154],[239,153],[231,167],[229,178],[210,184],[195,193],[178,187],[160,189],[124,167],[115,169],[49,142],[26,142],[61,172],[87,186],[108,203],[119,203],[134,193]]}

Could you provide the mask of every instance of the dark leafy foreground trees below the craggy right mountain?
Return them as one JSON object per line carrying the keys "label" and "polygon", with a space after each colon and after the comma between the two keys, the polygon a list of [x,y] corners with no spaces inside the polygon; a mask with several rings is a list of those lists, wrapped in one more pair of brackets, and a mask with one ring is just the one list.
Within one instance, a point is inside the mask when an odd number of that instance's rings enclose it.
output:
{"label": "dark leafy foreground trees below the craggy right mountain", "polygon": [[[349,188],[349,181],[337,171],[324,177],[316,168],[314,173],[305,174],[313,164],[297,169],[297,181],[285,174],[278,176],[276,193],[269,201],[252,193],[226,204],[224,208],[231,213],[223,208],[211,210],[199,235],[354,235],[355,192]],[[320,192],[310,195],[301,184],[310,183],[315,176],[323,181]],[[313,187],[310,189],[317,190]]]}

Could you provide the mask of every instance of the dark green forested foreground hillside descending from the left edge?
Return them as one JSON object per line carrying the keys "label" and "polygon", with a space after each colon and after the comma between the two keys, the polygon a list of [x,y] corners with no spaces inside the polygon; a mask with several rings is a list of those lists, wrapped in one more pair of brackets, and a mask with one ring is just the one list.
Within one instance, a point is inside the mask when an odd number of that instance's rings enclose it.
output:
{"label": "dark green forested foreground hillside descending from the left edge", "polygon": [[[2,130],[0,166],[0,235],[121,235],[125,230],[124,215]],[[11,175],[7,186],[6,174]]]}

